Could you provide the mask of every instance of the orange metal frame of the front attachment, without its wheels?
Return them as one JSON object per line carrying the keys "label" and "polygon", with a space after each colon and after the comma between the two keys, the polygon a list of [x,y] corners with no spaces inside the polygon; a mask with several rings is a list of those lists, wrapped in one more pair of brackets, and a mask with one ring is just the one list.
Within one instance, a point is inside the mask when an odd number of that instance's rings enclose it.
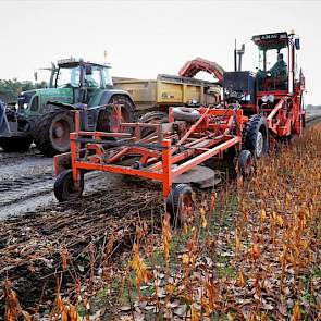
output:
{"label": "orange metal frame of the front attachment, without its wheels", "polygon": [[[119,133],[82,131],[82,111],[76,111],[75,132],[70,135],[75,184],[79,183],[82,172],[112,172],[159,181],[163,197],[168,197],[175,176],[212,157],[222,157],[229,148],[242,149],[242,110],[199,108],[198,111],[201,116],[193,125],[174,122],[170,109],[169,123],[122,123]],[[128,127],[133,128],[133,134],[125,133]],[[155,132],[140,139],[144,127],[151,127]],[[107,140],[109,137],[118,139]],[[85,152],[84,148],[81,149],[83,144],[86,144]],[[110,147],[113,144],[116,146]],[[54,160],[55,172],[59,157],[55,156]],[[122,165],[120,161],[124,157],[138,157],[139,162],[132,166]]]}

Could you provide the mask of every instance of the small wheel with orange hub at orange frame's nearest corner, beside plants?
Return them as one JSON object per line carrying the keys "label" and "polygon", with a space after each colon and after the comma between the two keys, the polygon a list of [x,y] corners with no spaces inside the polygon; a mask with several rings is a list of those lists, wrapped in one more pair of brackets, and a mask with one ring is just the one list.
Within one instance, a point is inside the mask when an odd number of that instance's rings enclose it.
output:
{"label": "small wheel with orange hub at orange frame's nearest corner, beside plants", "polygon": [[194,201],[193,189],[187,184],[173,186],[166,198],[166,211],[173,224],[183,226],[193,217]]}

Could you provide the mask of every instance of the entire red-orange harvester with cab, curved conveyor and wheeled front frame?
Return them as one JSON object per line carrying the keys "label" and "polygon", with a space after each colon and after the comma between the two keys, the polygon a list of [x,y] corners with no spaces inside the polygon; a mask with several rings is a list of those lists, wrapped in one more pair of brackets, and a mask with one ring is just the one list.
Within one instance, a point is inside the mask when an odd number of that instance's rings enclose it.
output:
{"label": "entire red-orange harvester with cab, curved conveyor and wheeled front frame", "polygon": [[[222,77],[215,65],[203,60],[190,61],[182,69],[181,73],[189,76],[199,70],[215,70],[224,91],[217,106],[170,108],[165,121],[120,122],[122,131],[116,133],[85,131],[84,111],[76,111],[71,152],[54,158],[57,199],[79,197],[88,171],[134,175],[160,182],[168,211],[182,223],[193,209],[188,183],[211,186],[214,180],[206,172],[205,162],[229,157],[237,164],[237,172],[247,176],[254,160],[271,145],[300,135],[305,79],[295,61],[298,37],[276,33],[254,36],[252,41],[260,52],[257,73],[240,70],[244,47],[235,50],[238,67],[235,63],[235,71]],[[115,108],[120,113],[121,107]],[[196,174],[189,175],[193,171]]]}

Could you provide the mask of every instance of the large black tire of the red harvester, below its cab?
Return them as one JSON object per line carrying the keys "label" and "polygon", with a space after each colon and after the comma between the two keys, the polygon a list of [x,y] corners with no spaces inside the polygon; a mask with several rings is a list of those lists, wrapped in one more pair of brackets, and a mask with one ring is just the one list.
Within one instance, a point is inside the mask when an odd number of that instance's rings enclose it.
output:
{"label": "large black tire of the red harvester, below its cab", "polygon": [[244,149],[248,149],[256,159],[269,151],[269,129],[267,120],[260,114],[252,115],[245,126]]}

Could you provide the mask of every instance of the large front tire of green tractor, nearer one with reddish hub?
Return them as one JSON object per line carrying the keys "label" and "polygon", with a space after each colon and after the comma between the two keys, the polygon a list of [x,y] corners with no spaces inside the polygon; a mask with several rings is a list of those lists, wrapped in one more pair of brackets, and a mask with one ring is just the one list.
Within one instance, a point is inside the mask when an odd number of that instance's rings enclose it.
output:
{"label": "large front tire of green tractor, nearer one with reddish hub", "polygon": [[37,148],[48,156],[69,151],[70,133],[74,127],[74,116],[70,110],[48,106],[33,126]]}

